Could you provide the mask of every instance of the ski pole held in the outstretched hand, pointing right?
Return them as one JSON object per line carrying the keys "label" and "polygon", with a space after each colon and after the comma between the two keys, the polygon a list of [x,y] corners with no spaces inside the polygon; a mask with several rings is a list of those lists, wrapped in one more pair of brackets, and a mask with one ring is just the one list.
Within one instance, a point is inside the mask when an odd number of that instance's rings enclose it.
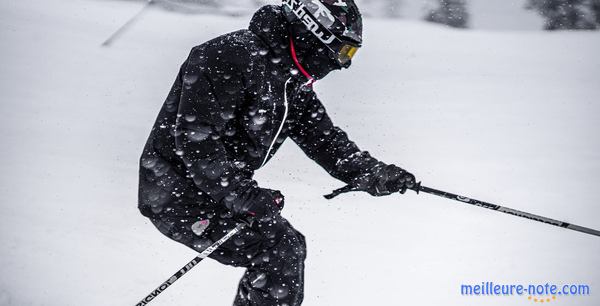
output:
{"label": "ski pole held in the outstretched hand, pointing right", "polygon": [[[558,226],[558,227],[562,227],[562,228],[566,228],[566,229],[570,229],[570,230],[574,230],[574,231],[578,231],[578,232],[582,232],[582,233],[586,233],[586,234],[590,234],[590,235],[594,235],[594,236],[600,236],[600,231],[597,231],[595,229],[571,224],[571,223],[564,222],[564,221],[554,220],[551,218],[535,215],[532,213],[512,209],[512,208],[501,206],[501,205],[496,205],[496,204],[492,204],[492,203],[488,203],[488,202],[484,202],[484,201],[480,201],[480,200],[475,200],[472,198],[468,198],[465,196],[457,195],[457,194],[446,192],[446,191],[433,189],[433,188],[426,187],[426,186],[421,186],[421,182],[417,183],[411,189],[416,191],[417,194],[422,191],[425,193],[436,195],[438,197],[443,197],[443,198],[459,201],[462,203],[503,212],[505,214],[509,214],[509,215],[533,220],[533,221],[538,221],[538,222],[542,222],[542,223],[546,223],[546,224],[550,224],[550,225],[554,225],[554,226]],[[350,191],[355,191],[355,190],[353,190],[353,188],[350,185],[346,185],[342,188],[334,190],[332,193],[330,193],[328,195],[325,195],[325,198],[332,199],[333,197],[335,197],[339,194],[342,194],[345,192],[350,192]]]}

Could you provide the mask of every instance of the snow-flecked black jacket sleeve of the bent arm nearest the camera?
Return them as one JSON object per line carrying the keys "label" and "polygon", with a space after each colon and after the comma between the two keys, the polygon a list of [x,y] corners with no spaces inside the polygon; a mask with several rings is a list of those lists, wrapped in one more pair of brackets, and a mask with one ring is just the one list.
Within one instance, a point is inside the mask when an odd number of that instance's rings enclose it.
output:
{"label": "snow-flecked black jacket sleeve of the bent arm nearest the camera", "polygon": [[243,213],[249,203],[264,200],[266,190],[248,177],[243,163],[228,156],[221,139],[244,99],[249,54],[231,45],[222,49],[194,49],[184,63],[175,153],[202,192]]}

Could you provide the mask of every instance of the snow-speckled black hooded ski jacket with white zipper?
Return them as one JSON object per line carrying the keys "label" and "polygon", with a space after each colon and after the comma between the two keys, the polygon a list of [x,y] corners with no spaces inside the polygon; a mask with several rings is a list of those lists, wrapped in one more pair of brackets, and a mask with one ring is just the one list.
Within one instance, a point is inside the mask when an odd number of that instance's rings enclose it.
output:
{"label": "snow-speckled black hooded ski jacket with white zipper", "polygon": [[191,50],[140,158],[143,215],[211,218],[264,198],[254,171],[288,137],[346,183],[385,165],[350,141],[304,86],[287,27],[280,7],[265,6],[249,29]]}

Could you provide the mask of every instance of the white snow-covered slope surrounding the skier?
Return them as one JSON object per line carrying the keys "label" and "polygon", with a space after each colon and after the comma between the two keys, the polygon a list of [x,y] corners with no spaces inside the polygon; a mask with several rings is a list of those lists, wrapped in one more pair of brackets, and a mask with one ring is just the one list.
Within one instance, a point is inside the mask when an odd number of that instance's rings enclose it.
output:
{"label": "white snow-covered slope surrounding the skier", "polygon": [[[249,18],[149,10],[100,47],[139,9],[0,2],[0,305],[132,305],[195,256],[138,213],[138,158],[189,49]],[[597,33],[365,23],[352,69],[317,84],[361,148],[424,185],[600,228]],[[600,303],[598,237],[426,194],[328,201],[341,182],[290,140],[256,179],[307,236],[304,305],[532,303],[460,295],[482,281],[583,283],[557,303]],[[229,305],[242,272],[202,262],[152,303]]]}

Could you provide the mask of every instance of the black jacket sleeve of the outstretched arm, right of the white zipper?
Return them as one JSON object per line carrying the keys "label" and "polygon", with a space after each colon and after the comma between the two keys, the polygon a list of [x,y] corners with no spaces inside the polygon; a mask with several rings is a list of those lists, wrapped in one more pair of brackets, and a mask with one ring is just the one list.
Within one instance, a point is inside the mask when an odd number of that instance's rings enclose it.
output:
{"label": "black jacket sleeve of the outstretched arm, right of the white zipper", "polygon": [[361,151],[346,132],[333,124],[314,91],[306,94],[307,108],[291,129],[290,138],[309,158],[346,184],[385,166],[368,151]]}

